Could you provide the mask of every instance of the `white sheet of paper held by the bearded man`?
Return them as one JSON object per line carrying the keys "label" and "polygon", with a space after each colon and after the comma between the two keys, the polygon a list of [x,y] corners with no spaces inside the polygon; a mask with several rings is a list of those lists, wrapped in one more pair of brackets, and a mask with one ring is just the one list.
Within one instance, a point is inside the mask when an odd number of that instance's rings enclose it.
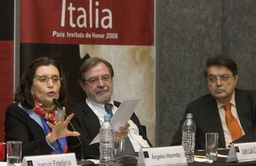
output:
{"label": "white sheet of paper held by the bearded man", "polygon": [[[126,100],[121,103],[121,105],[116,110],[116,113],[111,118],[114,131],[118,131],[119,127],[124,127],[124,124],[128,122],[139,102],[140,98]],[[100,142],[100,133],[93,139],[90,144],[95,144],[98,142]]]}

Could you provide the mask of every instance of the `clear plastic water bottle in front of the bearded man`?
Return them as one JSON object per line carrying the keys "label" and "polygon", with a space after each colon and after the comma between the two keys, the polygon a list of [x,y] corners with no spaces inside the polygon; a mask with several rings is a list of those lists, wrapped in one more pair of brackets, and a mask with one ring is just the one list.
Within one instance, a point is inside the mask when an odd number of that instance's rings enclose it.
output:
{"label": "clear plastic water bottle in front of the bearded man", "polygon": [[105,114],[105,122],[100,128],[100,165],[114,164],[114,128],[111,115]]}

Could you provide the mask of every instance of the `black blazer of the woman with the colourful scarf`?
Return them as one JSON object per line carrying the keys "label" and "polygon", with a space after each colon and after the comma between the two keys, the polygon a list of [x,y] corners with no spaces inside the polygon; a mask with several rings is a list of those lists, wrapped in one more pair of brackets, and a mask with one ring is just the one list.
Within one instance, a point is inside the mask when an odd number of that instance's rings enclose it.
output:
{"label": "black blazer of the woman with the colourful scarf", "polygon": [[11,104],[6,110],[5,132],[5,141],[22,141],[22,157],[53,152],[43,128],[18,107],[18,103]]}

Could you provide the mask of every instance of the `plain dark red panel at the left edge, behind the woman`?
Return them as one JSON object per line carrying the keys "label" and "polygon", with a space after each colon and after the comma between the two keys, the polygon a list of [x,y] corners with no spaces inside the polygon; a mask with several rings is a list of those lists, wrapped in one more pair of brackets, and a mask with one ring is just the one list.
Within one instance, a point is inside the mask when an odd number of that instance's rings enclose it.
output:
{"label": "plain dark red panel at the left edge, behind the woman", "polygon": [[0,41],[0,140],[4,141],[6,108],[13,102],[13,41]]}

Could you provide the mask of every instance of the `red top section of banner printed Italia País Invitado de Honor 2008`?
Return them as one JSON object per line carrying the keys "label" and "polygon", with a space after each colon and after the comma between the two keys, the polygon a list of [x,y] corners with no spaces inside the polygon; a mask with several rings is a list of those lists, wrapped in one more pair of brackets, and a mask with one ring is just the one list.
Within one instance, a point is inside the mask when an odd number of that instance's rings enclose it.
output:
{"label": "red top section of banner printed Italia Pa\u00eds Invitado de Honor 2008", "polygon": [[26,0],[20,7],[21,43],[153,46],[153,0]]}

